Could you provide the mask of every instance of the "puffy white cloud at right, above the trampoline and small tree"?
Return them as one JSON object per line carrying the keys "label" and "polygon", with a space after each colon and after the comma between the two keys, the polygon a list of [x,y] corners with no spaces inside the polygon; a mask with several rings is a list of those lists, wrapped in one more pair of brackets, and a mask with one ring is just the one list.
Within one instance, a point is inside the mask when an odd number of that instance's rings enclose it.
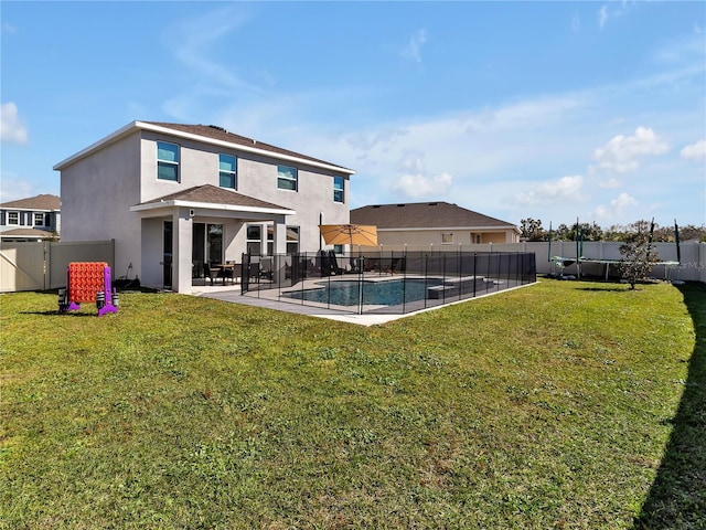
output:
{"label": "puffy white cloud at right, above the trampoline and small tree", "polygon": [[638,127],[634,136],[618,135],[606,147],[596,149],[593,158],[598,161],[599,168],[624,173],[638,169],[641,158],[662,155],[668,148],[654,130]]}

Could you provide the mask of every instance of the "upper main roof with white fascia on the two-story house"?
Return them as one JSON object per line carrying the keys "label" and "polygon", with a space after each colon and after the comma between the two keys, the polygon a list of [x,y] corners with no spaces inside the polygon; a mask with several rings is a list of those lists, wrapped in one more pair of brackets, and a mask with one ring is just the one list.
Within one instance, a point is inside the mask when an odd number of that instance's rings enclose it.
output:
{"label": "upper main roof with white fascia on the two-story house", "polygon": [[328,169],[331,171],[338,171],[346,174],[354,174],[355,171],[346,169],[341,166],[336,166],[318,158],[312,158],[307,155],[301,155],[296,151],[282,149],[281,147],[272,146],[270,144],[264,144],[253,138],[239,136],[233,132],[228,132],[223,127],[214,125],[183,125],[183,124],[165,124],[161,121],[132,121],[125,127],[116,130],[107,137],[98,140],[97,142],[88,146],[87,148],[72,155],[67,159],[58,162],[54,166],[54,170],[61,171],[62,169],[71,166],[77,160],[101,149],[103,147],[117,141],[118,139],[128,136],[136,130],[149,130],[152,132],[161,132],[170,136],[188,138],[195,141],[202,141],[205,144],[229,147],[240,151],[248,151],[260,156],[270,156],[280,160],[290,162],[308,163],[310,166]]}

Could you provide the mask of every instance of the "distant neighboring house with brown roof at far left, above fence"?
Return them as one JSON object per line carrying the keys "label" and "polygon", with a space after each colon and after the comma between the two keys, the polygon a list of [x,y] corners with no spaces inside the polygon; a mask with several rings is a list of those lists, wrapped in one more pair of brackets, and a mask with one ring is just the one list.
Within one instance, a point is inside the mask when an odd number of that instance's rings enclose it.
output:
{"label": "distant neighboring house with brown roof at far left, above fence", "polygon": [[58,237],[61,199],[41,195],[0,204],[0,239],[2,241],[42,241]]}

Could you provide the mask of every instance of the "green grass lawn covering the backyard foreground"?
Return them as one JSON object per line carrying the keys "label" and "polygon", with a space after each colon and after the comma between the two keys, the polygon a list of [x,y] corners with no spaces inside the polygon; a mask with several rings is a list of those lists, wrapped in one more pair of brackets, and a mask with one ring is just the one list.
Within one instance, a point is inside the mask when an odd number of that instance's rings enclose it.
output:
{"label": "green grass lawn covering the backyard foreground", "polygon": [[0,528],[706,528],[705,294],[545,280],[372,328],[3,295]]}

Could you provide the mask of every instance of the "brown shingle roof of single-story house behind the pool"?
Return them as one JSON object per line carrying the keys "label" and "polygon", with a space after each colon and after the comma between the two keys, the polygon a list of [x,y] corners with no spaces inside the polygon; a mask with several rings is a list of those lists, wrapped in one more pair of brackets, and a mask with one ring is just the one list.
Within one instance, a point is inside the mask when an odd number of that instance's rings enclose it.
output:
{"label": "brown shingle roof of single-story house behind the pool", "polygon": [[374,204],[351,210],[351,223],[392,229],[518,229],[448,202]]}

